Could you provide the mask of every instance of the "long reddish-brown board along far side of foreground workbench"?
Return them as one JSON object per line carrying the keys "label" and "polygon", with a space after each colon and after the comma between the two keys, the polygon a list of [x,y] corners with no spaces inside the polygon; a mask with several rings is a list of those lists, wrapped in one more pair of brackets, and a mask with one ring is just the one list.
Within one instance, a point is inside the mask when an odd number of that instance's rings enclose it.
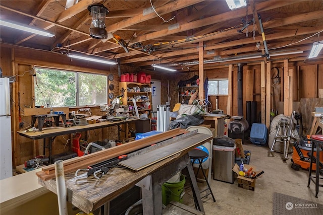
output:
{"label": "long reddish-brown board along far side of foreground workbench", "polygon": [[[186,132],[187,131],[185,131],[184,129],[177,128],[160,134],[152,135],[144,139],[128,142],[127,144],[123,144],[117,147],[91,153],[86,156],[66,160],[63,162],[64,173],[71,173],[78,169],[83,169],[87,166],[94,165],[112,158],[116,158],[120,155],[124,155],[142,149],[144,147],[155,144],[156,142],[163,141]],[[54,165],[43,167],[42,171],[37,172],[36,175],[44,181],[55,178],[55,167]]]}

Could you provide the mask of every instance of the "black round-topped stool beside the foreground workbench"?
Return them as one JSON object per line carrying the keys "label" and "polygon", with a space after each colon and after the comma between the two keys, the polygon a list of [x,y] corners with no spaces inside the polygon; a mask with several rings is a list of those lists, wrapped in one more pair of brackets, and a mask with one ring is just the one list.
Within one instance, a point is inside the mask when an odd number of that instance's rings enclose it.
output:
{"label": "black round-topped stool beside the foreground workbench", "polygon": [[191,151],[188,152],[188,156],[190,157],[190,159],[193,160],[192,161],[192,166],[193,166],[193,164],[194,164],[194,162],[196,160],[198,160],[198,163],[199,163],[199,166],[198,166],[198,169],[197,169],[195,178],[197,178],[198,172],[201,169],[202,174],[203,174],[204,179],[205,179],[206,184],[207,184],[207,188],[204,189],[204,190],[202,190],[202,191],[200,191],[200,193],[202,193],[202,192],[204,192],[206,190],[209,190],[210,191],[210,193],[206,194],[205,196],[203,196],[201,198],[204,198],[204,197],[208,196],[209,194],[211,194],[212,195],[212,198],[213,198],[213,201],[215,202],[216,199],[214,198],[213,192],[212,192],[211,187],[210,187],[210,185],[209,185],[209,183],[207,181],[207,177],[206,177],[205,172],[204,172],[203,167],[202,167],[203,159],[207,158],[208,157],[208,154],[206,152],[202,151],[202,150],[193,149],[193,150],[191,150]]}

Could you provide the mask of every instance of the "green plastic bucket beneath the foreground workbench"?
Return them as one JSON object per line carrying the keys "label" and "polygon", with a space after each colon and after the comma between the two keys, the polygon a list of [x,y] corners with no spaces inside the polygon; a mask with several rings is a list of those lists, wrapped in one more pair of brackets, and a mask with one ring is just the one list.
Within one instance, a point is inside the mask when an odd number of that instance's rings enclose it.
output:
{"label": "green plastic bucket beneath the foreground workbench", "polygon": [[181,174],[180,181],[176,183],[165,182],[161,186],[163,204],[168,205],[171,201],[183,202],[185,176]]}

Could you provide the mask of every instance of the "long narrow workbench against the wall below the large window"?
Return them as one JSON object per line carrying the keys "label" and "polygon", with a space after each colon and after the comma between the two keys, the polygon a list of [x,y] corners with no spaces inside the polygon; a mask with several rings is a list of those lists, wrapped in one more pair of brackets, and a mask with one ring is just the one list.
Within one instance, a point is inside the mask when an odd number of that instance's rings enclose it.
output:
{"label": "long narrow workbench against the wall below the large window", "polygon": [[48,127],[43,128],[41,131],[29,131],[26,132],[26,130],[20,130],[17,131],[20,135],[25,136],[30,139],[44,139],[44,153],[45,153],[45,142],[46,138],[48,137],[48,148],[49,148],[49,161],[51,159],[51,152],[52,152],[52,142],[55,139],[56,136],[64,135],[64,134],[71,134],[71,133],[78,133],[82,131],[88,131],[88,130],[94,130],[99,128],[105,128],[110,126],[119,126],[122,124],[130,123],[137,121],[138,119],[128,119],[128,120],[121,120],[121,121],[114,121],[114,122],[98,122],[94,124],[87,124],[87,125],[77,125],[77,126],[71,126],[71,127]]}

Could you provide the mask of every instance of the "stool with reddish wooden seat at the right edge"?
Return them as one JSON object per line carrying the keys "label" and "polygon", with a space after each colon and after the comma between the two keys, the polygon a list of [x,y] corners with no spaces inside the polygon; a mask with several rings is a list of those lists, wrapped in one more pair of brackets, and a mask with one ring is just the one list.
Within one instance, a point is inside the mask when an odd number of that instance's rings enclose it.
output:
{"label": "stool with reddish wooden seat at the right edge", "polygon": [[[312,151],[311,151],[311,162],[309,165],[309,175],[308,175],[308,184],[307,187],[309,187],[309,184],[311,180],[315,184],[315,197],[317,198],[317,193],[318,193],[318,187],[323,187],[323,184],[319,184],[319,179],[323,179],[319,177],[319,149],[322,147],[323,149],[323,135],[317,134],[317,135],[312,135],[311,136],[312,140]],[[314,145],[316,148],[316,158],[315,158],[315,163],[316,163],[316,169],[315,169],[315,176],[312,176],[312,164],[314,161]],[[314,179],[315,181],[314,181]]]}

